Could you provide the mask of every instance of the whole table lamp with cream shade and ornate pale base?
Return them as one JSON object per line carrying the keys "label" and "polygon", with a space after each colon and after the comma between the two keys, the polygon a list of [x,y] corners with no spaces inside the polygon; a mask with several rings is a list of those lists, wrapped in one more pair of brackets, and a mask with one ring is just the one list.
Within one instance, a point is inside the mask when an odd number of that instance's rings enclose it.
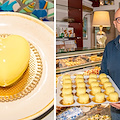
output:
{"label": "whole table lamp with cream shade and ornate pale base", "polygon": [[102,31],[103,27],[110,27],[110,17],[107,11],[95,11],[93,16],[93,27],[99,27],[100,31],[97,32],[96,39],[100,47],[105,47],[107,39],[105,32]]}

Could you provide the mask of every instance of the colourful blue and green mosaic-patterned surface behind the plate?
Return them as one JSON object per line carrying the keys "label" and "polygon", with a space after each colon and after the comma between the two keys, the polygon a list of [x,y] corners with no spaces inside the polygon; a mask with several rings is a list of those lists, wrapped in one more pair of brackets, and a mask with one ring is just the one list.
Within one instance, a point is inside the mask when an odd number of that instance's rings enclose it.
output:
{"label": "colourful blue and green mosaic-patterned surface behind the plate", "polygon": [[53,21],[54,0],[0,0],[0,12],[19,12],[42,21]]}

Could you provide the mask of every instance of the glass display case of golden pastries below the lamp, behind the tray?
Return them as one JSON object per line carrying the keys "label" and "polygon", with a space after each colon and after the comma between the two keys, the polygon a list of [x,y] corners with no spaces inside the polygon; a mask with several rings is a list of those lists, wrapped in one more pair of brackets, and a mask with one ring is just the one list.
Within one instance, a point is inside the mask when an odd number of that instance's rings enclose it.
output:
{"label": "glass display case of golden pastries below the lamp, behind the tray", "polygon": [[104,48],[82,49],[56,54],[56,73],[100,65]]}

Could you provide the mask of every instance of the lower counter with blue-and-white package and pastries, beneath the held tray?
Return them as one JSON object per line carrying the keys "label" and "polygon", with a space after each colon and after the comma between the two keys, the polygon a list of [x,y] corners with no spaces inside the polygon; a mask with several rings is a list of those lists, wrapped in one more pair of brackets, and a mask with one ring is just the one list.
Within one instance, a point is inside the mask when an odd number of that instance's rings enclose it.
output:
{"label": "lower counter with blue-and-white package and pastries, beneath the held tray", "polygon": [[[57,107],[56,120],[111,120],[110,105]],[[71,114],[69,114],[71,113]]]}

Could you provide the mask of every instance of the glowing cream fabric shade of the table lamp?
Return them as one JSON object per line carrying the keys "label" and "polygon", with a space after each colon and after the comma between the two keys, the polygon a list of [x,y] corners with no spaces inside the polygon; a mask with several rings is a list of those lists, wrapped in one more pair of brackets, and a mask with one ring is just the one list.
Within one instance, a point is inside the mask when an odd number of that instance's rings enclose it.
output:
{"label": "glowing cream fabric shade of the table lamp", "polygon": [[107,11],[95,11],[93,16],[94,27],[110,27],[110,16]]}

